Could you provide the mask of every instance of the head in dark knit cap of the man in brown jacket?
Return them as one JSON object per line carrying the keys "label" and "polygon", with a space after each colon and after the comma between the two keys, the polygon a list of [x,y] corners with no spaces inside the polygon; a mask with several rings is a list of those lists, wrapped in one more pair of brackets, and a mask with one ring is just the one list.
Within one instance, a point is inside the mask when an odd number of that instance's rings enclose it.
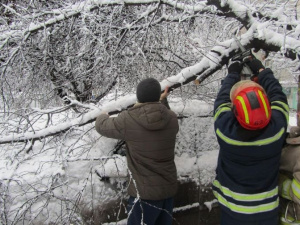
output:
{"label": "head in dark knit cap of the man in brown jacket", "polygon": [[160,83],[154,78],[142,80],[136,88],[138,102],[158,102],[161,94]]}

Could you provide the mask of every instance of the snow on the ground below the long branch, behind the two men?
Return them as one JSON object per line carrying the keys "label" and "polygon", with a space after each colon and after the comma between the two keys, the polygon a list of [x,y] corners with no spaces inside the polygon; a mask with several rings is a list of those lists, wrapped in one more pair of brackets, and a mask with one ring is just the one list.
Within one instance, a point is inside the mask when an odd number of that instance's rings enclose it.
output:
{"label": "snow on the ground below the long branch, behind the two men", "polygon": [[[218,157],[212,105],[198,100],[183,103],[172,97],[169,102],[172,110],[184,117],[179,119],[175,149],[178,178],[209,185]],[[290,125],[296,125],[295,112]],[[0,149],[0,188],[10,196],[8,218],[21,220],[30,208],[30,216],[38,215],[35,219],[46,224],[62,212],[74,213],[75,203],[81,211],[92,206],[105,208],[126,193],[126,158],[113,154],[118,140],[101,137],[94,124],[82,129],[54,138],[47,146],[37,141],[29,154],[19,144]],[[107,182],[98,175],[113,179]]]}

